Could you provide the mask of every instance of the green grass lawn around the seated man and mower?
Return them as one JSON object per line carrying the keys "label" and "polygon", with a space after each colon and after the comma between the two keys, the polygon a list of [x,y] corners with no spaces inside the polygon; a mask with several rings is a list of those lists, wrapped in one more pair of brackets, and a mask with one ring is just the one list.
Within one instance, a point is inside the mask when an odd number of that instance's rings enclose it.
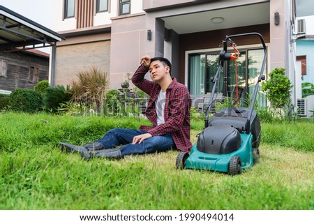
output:
{"label": "green grass lawn around the seated man and mower", "polygon": [[[137,118],[0,114],[0,209],[314,209],[314,123],[262,124],[259,163],[239,176],[176,170],[178,151],[81,160],[84,144]],[[192,141],[202,121],[192,121]]]}

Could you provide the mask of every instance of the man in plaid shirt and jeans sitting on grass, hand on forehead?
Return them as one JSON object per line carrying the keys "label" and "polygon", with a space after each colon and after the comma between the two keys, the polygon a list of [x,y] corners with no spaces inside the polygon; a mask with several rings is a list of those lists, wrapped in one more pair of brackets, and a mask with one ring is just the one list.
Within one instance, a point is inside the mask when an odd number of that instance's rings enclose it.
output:
{"label": "man in plaid shirt and jeans sitting on grass, hand on forehead", "polygon": [[[144,78],[148,71],[152,81]],[[142,57],[132,82],[149,94],[146,116],[153,126],[140,126],[139,130],[114,128],[100,140],[82,147],[65,142],[57,143],[57,146],[66,152],[79,152],[86,159],[122,158],[175,148],[189,151],[192,147],[190,94],[184,84],[172,79],[170,61],[163,57]]]}

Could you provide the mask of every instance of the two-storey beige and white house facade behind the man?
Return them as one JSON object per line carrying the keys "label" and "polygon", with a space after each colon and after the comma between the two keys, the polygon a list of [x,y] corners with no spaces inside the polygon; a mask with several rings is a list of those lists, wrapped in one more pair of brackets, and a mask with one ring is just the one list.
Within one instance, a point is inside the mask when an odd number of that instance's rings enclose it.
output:
{"label": "two-storey beige and white house facade behind the man", "polygon": [[[58,0],[54,30],[66,40],[52,52],[56,61],[50,79],[66,85],[81,70],[96,66],[110,75],[110,88],[119,89],[125,74],[133,73],[140,57],[149,55],[170,59],[172,76],[190,94],[204,95],[211,91],[225,36],[257,32],[267,45],[264,74],[283,67],[294,82],[301,75],[291,40],[294,22],[294,0]],[[260,39],[246,36],[234,42],[240,52],[237,85],[252,94],[263,58]],[[234,73],[234,62],[226,63],[218,84],[223,96],[236,85]],[[259,95],[264,105],[264,94]]]}

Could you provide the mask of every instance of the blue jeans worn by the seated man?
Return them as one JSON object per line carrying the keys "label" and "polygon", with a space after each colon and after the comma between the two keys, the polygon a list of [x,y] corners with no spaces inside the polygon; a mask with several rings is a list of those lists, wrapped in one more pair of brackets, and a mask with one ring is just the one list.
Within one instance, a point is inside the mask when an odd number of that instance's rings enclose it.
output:
{"label": "blue jeans worn by the seated man", "polygon": [[130,154],[150,154],[156,151],[167,151],[175,146],[171,135],[153,136],[144,140],[141,144],[132,144],[134,136],[145,133],[147,133],[146,130],[114,128],[105,133],[103,138],[97,140],[96,142],[103,144],[105,149],[114,149],[123,144],[122,147],[119,147],[123,156]]}

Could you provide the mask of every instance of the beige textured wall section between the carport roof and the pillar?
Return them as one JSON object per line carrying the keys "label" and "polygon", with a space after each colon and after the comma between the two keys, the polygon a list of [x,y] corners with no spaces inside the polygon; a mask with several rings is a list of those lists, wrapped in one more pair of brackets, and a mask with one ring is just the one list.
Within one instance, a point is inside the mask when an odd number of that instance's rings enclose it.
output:
{"label": "beige textured wall section between the carport roof and the pillar", "polygon": [[70,84],[82,70],[95,66],[110,72],[110,41],[57,47],[56,85]]}

